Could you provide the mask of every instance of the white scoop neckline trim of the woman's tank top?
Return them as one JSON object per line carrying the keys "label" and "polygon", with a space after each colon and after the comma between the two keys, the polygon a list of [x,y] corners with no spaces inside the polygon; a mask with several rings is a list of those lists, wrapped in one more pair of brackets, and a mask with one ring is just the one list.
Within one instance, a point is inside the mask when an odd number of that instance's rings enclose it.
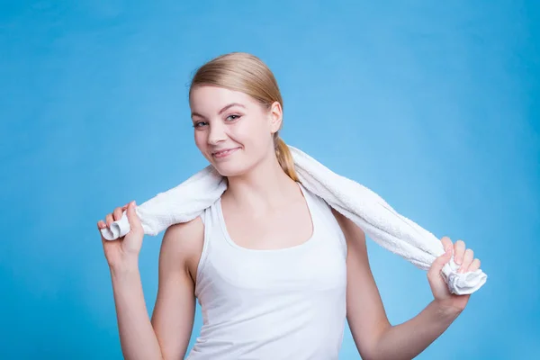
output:
{"label": "white scoop neckline trim of the woman's tank top", "polygon": [[296,184],[298,184],[298,186],[300,187],[300,191],[302,192],[302,196],[303,196],[303,198],[304,198],[304,200],[306,202],[306,205],[308,207],[308,211],[310,212],[310,217],[311,217],[311,237],[310,238],[308,238],[307,240],[305,240],[301,244],[293,245],[292,247],[268,248],[268,249],[242,247],[242,246],[238,245],[230,237],[229,230],[227,229],[227,224],[225,223],[225,217],[223,215],[223,209],[221,207],[221,198],[220,198],[218,200],[218,202],[217,202],[218,216],[219,216],[219,220],[220,220],[220,227],[221,227],[221,231],[223,232],[223,235],[225,236],[225,240],[229,243],[229,245],[231,247],[235,247],[235,248],[237,248],[238,250],[241,250],[241,251],[250,252],[250,253],[260,253],[260,254],[284,253],[284,252],[289,252],[289,251],[296,251],[296,250],[302,249],[304,247],[311,247],[312,243],[314,242],[315,234],[317,233],[317,229],[318,229],[318,226],[317,226],[316,220],[315,220],[315,214],[314,214],[314,211],[313,211],[313,203],[311,202],[311,198],[310,198],[309,194],[306,192],[306,189],[303,187],[302,183],[296,182]]}

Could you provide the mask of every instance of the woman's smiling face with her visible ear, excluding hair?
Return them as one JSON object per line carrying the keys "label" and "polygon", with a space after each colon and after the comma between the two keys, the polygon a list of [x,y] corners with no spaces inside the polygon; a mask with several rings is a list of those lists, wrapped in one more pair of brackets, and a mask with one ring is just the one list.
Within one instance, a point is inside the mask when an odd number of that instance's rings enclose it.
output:
{"label": "woman's smiling face with her visible ear, excluding hair", "polygon": [[241,175],[274,156],[273,133],[282,119],[279,103],[266,111],[247,94],[201,85],[192,89],[190,107],[195,144],[220,175]]}

